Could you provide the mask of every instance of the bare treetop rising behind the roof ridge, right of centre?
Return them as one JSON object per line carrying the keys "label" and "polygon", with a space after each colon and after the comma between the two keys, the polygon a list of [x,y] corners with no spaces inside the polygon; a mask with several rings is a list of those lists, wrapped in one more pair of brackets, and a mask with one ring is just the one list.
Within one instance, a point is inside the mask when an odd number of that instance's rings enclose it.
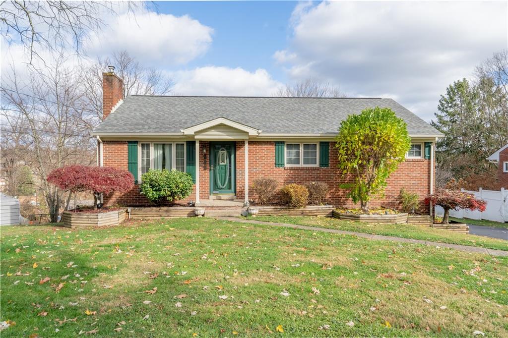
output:
{"label": "bare treetop rising behind the roof ridge, right of centre", "polygon": [[306,79],[296,84],[280,87],[274,96],[281,97],[347,97],[338,87],[316,79]]}

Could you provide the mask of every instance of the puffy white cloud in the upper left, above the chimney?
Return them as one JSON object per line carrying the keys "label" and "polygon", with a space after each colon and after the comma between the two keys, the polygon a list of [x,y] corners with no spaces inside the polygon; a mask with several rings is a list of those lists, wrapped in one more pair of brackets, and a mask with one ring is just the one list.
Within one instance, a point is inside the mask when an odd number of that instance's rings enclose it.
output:
{"label": "puffy white cloud in the upper left, above the chimney", "polygon": [[149,65],[185,64],[208,50],[213,29],[188,15],[180,17],[138,10],[122,13],[87,42],[91,55],[126,50]]}

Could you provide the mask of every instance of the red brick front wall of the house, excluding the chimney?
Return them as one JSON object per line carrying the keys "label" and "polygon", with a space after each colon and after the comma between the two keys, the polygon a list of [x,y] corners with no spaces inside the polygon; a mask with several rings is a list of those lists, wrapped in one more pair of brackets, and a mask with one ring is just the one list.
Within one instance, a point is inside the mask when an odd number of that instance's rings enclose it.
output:
{"label": "red brick front wall of the house, excluding the chimney", "polygon": [[[127,142],[104,141],[104,165],[127,169]],[[273,142],[249,141],[248,145],[248,171],[249,185],[257,177],[267,176],[279,180],[280,186],[289,183],[305,184],[313,181],[322,181],[330,186],[329,201],[335,206],[354,207],[351,199],[346,198],[347,191],[340,189],[339,184],[347,180],[341,178],[337,169],[337,152],[330,143],[330,166],[321,167],[275,167],[275,151]],[[206,153],[203,150],[206,149]],[[245,196],[245,157],[244,142],[236,143],[236,195],[243,199]],[[209,142],[200,141],[200,198],[208,199],[210,195],[209,185]],[[206,157],[206,159],[205,159]],[[375,198],[371,201],[371,206],[397,207],[397,196],[400,188],[416,192],[422,199],[422,212],[428,212],[428,206],[423,204],[423,198],[430,192],[430,160],[426,159],[407,159],[399,165],[397,171],[388,179],[388,186],[385,191],[385,197]],[[252,192],[249,192],[252,198]],[[195,199],[195,191],[192,196],[185,201]],[[111,196],[105,196],[106,204],[122,204],[129,206],[148,205],[148,200],[139,194],[139,187],[135,186],[130,192],[125,194],[115,193]]]}

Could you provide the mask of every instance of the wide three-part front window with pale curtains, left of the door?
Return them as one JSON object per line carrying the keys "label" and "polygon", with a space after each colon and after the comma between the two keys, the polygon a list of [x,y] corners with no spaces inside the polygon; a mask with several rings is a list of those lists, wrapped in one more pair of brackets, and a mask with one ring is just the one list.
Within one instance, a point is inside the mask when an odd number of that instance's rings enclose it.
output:
{"label": "wide three-part front window with pale curtains, left of the door", "polygon": [[141,143],[140,153],[140,175],[150,169],[185,172],[185,143]]}

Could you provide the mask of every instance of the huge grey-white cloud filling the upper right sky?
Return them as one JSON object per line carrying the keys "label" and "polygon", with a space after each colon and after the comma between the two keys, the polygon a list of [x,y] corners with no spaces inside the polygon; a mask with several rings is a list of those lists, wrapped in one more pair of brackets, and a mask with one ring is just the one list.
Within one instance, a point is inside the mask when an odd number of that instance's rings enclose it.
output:
{"label": "huge grey-white cloud filling the upper right sky", "polygon": [[[274,58],[355,96],[397,95],[430,120],[439,94],[507,46],[506,3],[331,2],[298,5]],[[290,57],[291,56],[291,57]]]}

